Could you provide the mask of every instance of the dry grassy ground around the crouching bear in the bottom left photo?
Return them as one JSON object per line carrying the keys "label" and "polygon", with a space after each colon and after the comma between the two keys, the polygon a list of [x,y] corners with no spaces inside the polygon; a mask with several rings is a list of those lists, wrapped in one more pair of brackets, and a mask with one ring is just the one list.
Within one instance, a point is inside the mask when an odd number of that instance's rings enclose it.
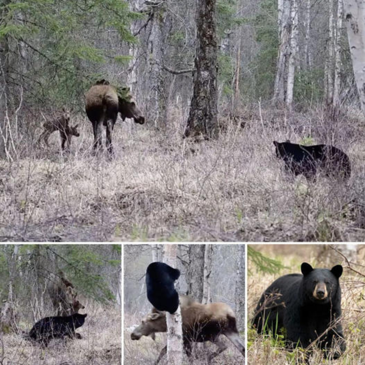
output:
{"label": "dry grassy ground around the crouching bear in the bottom left photo", "polygon": [[[42,348],[22,335],[0,338],[2,365],[120,365],[122,363],[121,312],[113,307],[88,305],[85,323],[76,330],[81,339],[54,339]],[[27,331],[32,323],[21,323]],[[1,343],[2,342],[2,343]],[[2,348],[3,346],[3,348]]]}

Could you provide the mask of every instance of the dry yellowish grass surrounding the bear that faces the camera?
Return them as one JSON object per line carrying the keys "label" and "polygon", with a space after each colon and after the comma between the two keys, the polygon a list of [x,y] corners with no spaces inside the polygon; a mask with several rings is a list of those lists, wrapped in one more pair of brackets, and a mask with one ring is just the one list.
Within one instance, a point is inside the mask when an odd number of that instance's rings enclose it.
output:
{"label": "dry yellowish grass surrounding the bear that faces the camera", "polygon": [[[259,246],[252,246],[258,249]],[[275,339],[271,335],[258,335],[250,323],[254,316],[254,310],[264,290],[279,276],[288,273],[300,273],[300,265],[303,261],[309,262],[313,267],[332,268],[342,262],[342,258],[334,254],[326,247],[306,245],[269,245],[261,246],[261,253],[279,260],[285,269],[278,274],[263,274],[258,272],[249,261],[249,274],[247,280],[247,358],[248,365],[295,365],[303,364],[303,352],[295,350],[286,351],[284,341]],[[364,249],[362,249],[364,252]],[[358,258],[363,262],[364,258]],[[353,265],[358,271],[364,271],[363,265]],[[344,269],[340,278],[342,290],[342,327],[346,339],[347,349],[338,360],[323,360],[322,352],[315,349],[310,364],[327,365],[361,365],[365,364],[365,300],[364,277],[349,269]]]}

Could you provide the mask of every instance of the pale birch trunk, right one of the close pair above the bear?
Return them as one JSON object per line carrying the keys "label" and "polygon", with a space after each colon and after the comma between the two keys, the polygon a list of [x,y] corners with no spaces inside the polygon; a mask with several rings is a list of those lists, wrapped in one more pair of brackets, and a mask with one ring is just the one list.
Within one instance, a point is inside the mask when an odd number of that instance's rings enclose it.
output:
{"label": "pale birch trunk, right one of the close pair above the bear", "polygon": [[287,93],[285,96],[285,103],[289,108],[292,107],[293,102],[293,88],[294,88],[294,75],[296,64],[296,52],[297,52],[297,38],[298,38],[298,3],[297,0],[291,0],[291,35],[290,35],[290,54],[288,61],[288,80],[287,80]]}

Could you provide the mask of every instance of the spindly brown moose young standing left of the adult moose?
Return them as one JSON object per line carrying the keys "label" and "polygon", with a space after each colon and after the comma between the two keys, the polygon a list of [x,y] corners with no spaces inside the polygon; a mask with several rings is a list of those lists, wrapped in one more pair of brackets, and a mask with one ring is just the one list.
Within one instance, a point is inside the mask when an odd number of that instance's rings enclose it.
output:
{"label": "spindly brown moose young standing left of the adult moose", "polygon": [[48,139],[49,136],[55,132],[59,131],[61,135],[61,147],[62,150],[65,149],[65,142],[67,141],[68,149],[71,146],[71,137],[79,137],[80,133],[77,131],[78,124],[75,126],[69,126],[70,122],[70,112],[65,108],[62,108],[62,114],[57,116],[55,119],[48,120],[43,124],[43,132],[39,136],[37,143],[43,141],[46,143],[46,146],[49,147]]}

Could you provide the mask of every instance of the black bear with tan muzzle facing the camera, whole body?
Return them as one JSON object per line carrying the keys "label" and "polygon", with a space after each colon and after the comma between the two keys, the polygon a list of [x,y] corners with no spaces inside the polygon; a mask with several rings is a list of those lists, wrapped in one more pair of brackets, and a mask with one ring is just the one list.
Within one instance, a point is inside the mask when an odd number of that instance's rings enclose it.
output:
{"label": "black bear with tan muzzle facing the camera, whole body", "polygon": [[[262,294],[252,325],[258,333],[279,333],[284,328],[286,346],[306,348],[317,338],[326,357],[338,358],[346,349],[342,334],[342,266],[331,270],[301,264],[302,274],[288,274],[275,280]],[[330,353],[331,349],[335,350]],[[337,349],[339,347],[339,349]]]}

